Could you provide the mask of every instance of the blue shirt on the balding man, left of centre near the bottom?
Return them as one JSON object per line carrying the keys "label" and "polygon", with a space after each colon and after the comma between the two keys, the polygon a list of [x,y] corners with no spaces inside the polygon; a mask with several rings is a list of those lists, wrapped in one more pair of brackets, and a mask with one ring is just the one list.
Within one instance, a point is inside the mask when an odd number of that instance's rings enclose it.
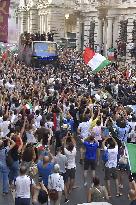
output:
{"label": "blue shirt on the balding man, left of centre near the bottom", "polygon": [[43,184],[48,186],[48,177],[52,174],[54,163],[48,163],[46,167],[43,166],[43,162],[39,161],[37,164],[39,176],[42,177]]}

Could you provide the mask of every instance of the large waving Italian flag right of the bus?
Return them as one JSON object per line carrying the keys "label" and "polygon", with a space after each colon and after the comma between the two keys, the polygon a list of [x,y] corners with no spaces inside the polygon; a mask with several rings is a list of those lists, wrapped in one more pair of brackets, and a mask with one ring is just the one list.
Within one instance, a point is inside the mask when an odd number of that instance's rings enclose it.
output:
{"label": "large waving Italian flag right of the bus", "polygon": [[86,48],[83,53],[85,64],[91,67],[93,73],[97,73],[111,62],[99,53],[95,53],[91,48]]}

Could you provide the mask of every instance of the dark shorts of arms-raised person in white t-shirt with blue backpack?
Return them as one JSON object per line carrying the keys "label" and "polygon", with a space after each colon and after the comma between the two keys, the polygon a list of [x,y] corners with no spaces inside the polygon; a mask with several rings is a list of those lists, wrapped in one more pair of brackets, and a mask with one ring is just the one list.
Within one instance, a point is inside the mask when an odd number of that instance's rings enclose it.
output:
{"label": "dark shorts of arms-raised person in white t-shirt with blue backpack", "polygon": [[118,170],[117,168],[109,168],[105,167],[105,180],[110,180],[110,178],[117,179],[118,178]]}

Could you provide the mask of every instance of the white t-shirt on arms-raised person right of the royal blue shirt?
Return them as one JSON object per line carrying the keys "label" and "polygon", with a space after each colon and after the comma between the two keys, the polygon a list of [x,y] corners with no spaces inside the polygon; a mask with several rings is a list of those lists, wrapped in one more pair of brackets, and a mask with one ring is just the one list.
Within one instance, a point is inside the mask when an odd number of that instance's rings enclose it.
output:
{"label": "white t-shirt on arms-raised person right of the royal blue shirt", "polygon": [[[104,150],[107,150],[107,147],[104,147]],[[114,149],[108,149],[108,161],[105,166],[108,168],[117,167],[117,156],[118,156],[118,145]]]}

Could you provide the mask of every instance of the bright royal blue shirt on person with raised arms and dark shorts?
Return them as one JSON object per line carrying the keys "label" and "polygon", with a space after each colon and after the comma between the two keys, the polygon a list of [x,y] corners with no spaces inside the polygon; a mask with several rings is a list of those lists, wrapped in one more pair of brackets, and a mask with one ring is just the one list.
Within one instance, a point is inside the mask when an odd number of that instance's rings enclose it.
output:
{"label": "bright royal blue shirt on person with raised arms and dark shorts", "polygon": [[96,160],[98,143],[90,143],[85,141],[84,145],[86,148],[85,158],[89,160]]}

